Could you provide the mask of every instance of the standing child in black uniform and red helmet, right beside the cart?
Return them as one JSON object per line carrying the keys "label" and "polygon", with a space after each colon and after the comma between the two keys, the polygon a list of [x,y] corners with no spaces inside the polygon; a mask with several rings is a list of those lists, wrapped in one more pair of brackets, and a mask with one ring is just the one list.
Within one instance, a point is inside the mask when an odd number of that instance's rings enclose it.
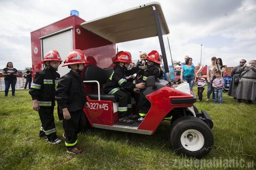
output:
{"label": "standing child in black uniform and red helmet, right beside the cart", "polygon": [[71,51],[63,66],[68,66],[69,73],[60,78],[56,90],[56,100],[60,111],[63,112],[63,137],[69,154],[79,154],[82,149],[77,148],[77,134],[86,126],[86,118],[83,112],[83,107],[89,103],[84,94],[83,79],[81,73],[84,70],[86,61],[84,53],[75,49]]}

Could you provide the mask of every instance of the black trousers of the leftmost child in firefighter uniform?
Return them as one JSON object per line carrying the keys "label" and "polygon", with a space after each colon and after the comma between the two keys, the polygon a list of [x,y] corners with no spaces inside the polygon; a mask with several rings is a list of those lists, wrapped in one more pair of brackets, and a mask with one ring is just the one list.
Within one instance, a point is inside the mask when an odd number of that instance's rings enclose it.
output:
{"label": "black trousers of the leftmost child in firefighter uniform", "polygon": [[57,139],[57,133],[54,123],[53,116],[54,107],[43,107],[41,106],[38,113],[41,120],[41,129],[39,136],[46,134],[49,141]]}

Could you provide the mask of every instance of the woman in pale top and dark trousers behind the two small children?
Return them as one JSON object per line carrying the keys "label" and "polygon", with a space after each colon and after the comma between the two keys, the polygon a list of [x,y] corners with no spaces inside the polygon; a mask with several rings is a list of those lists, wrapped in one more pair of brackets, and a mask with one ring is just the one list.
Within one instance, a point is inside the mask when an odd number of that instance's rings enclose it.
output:
{"label": "woman in pale top and dark trousers behind the two small children", "polygon": [[212,82],[215,79],[215,72],[220,71],[219,65],[216,64],[217,58],[212,57],[211,61],[212,61],[212,64],[207,66],[207,99],[206,101],[209,101],[211,94],[212,94],[212,99],[214,100]]}

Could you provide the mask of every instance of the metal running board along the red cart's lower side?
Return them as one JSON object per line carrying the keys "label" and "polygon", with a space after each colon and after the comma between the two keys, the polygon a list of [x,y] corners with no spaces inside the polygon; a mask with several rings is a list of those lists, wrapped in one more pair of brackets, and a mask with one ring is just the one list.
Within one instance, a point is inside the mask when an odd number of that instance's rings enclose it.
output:
{"label": "metal running board along the red cart's lower side", "polygon": [[[130,126],[129,126],[130,125]],[[139,133],[139,134],[152,134],[153,131],[147,131],[147,130],[139,130],[138,127],[140,123],[132,123],[132,124],[123,125],[121,123],[114,124],[113,126],[109,125],[102,125],[102,124],[94,124],[94,128],[100,128],[100,129],[107,129],[107,130],[114,130],[114,131],[121,131],[121,132],[129,132],[129,133]]]}

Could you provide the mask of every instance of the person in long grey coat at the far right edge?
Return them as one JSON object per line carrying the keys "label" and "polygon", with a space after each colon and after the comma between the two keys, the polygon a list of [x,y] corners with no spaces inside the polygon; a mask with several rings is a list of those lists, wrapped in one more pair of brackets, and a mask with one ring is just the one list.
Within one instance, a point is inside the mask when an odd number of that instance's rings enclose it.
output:
{"label": "person in long grey coat at the far right edge", "polygon": [[256,61],[251,60],[249,65],[244,65],[238,72],[241,73],[236,90],[236,98],[247,100],[247,103],[252,103],[256,100]]}

